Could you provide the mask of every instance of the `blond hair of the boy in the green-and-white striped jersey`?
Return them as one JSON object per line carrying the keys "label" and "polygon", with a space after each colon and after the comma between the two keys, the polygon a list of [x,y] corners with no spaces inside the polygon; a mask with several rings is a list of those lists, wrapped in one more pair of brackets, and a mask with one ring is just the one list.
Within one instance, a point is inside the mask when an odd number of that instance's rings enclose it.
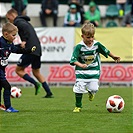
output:
{"label": "blond hair of the boy in the green-and-white striped jersey", "polygon": [[95,34],[95,27],[90,22],[85,22],[81,28],[81,32],[83,35],[94,35]]}

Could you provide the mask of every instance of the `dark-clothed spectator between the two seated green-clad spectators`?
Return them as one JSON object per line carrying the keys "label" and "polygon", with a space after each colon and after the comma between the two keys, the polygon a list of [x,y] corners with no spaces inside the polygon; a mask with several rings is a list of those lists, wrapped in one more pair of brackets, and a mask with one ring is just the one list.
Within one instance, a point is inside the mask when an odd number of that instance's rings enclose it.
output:
{"label": "dark-clothed spectator between the two seated green-clad spectators", "polygon": [[81,24],[84,23],[84,0],[68,0],[68,5],[75,4],[77,6],[77,11],[81,15]]}

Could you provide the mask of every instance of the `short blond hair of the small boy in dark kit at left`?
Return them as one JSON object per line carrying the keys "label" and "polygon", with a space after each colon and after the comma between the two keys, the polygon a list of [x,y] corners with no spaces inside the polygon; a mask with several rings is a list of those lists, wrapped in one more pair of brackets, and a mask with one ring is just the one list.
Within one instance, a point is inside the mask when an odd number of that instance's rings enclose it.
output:
{"label": "short blond hair of the small boy in dark kit at left", "polygon": [[11,33],[12,31],[18,32],[18,28],[14,24],[7,22],[3,25],[2,34],[4,34],[4,32]]}

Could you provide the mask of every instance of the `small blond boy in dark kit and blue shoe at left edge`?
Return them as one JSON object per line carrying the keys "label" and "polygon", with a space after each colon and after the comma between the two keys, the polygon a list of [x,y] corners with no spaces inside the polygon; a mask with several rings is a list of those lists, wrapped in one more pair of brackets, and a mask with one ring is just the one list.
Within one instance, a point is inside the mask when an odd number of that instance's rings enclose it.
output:
{"label": "small blond boy in dark kit and blue shoe at left edge", "polygon": [[[12,23],[6,23],[2,27],[2,36],[0,37],[0,109],[6,112],[19,112],[11,106],[10,90],[11,85],[6,79],[5,68],[8,65],[8,57],[11,53],[31,53],[36,47],[31,49],[23,49],[13,44],[13,40],[18,32],[18,28]],[[4,105],[1,104],[1,90],[4,88],[3,99]]]}

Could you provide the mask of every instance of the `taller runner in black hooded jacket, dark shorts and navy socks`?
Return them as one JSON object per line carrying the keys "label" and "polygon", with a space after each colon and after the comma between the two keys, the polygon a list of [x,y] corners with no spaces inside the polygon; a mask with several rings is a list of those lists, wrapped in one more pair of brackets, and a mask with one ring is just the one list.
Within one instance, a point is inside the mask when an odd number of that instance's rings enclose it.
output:
{"label": "taller runner in black hooded jacket, dark shorts and navy socks", "polygon": [[[16,73],[26,81],[29,81],[35,86],[35,95],[40,92],[40,88],[42,87],[46,91],[46,95],[44,98],[51,98],[53,94],[46,82],[44,76],[40,73],[41,68],[41,45],[39,38],[37,37],[36,31],[34,27],[29,23],[30,18],[28,16],[18,16],[17,11],[14,9],[10,9],[6,18],[18,27],[18,34],[21,38],[21,47],[30,48],[32,46],[36,46],[36,51],[31,54],[23,54],[16,67]],[[36,79],[40,82],[38,83],[34,80],[28,73],[25,72],[25,69],[31,65],[32,73],[36,77]]]}

